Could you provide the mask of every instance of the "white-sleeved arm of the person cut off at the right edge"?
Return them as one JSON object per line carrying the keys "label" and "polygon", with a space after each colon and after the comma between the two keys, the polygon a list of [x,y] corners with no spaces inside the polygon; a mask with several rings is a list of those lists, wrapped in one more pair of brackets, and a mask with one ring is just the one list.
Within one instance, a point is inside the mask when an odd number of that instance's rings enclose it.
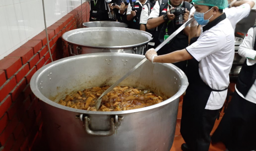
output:
{"label": "white-sleeved arm of the person cut off at the right edge", "polygon": [[242,57],[247,57],[247,59],[255,60],[256,51],[253,49],[253,43],[253,28],[250,28],[247,36],[239,46],[238,54]]}

